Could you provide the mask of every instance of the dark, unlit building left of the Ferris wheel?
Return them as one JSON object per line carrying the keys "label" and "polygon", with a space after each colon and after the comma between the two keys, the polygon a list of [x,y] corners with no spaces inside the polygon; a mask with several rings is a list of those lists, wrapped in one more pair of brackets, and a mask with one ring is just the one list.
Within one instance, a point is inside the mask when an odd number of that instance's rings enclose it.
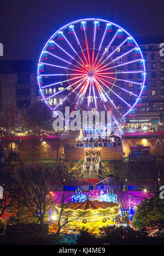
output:
{"label": "dark, unlit building left of the Ferris wheel", "polygon": [[32,60],[1,60],[0,113],[5,109],[27,109],[39,100],[36,68]]}

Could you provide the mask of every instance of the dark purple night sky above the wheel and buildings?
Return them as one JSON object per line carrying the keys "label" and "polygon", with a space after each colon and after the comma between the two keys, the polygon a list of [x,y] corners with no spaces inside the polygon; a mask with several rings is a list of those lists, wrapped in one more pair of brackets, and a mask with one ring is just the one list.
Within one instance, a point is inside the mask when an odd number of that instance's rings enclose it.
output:
{"label": "dark purple night sky above the wheel and buildings", "polygon": [[164,34],[163,0],[2,0],[2,59],[38,59],[54,32],[80,18],[103,18],[131,35]]}

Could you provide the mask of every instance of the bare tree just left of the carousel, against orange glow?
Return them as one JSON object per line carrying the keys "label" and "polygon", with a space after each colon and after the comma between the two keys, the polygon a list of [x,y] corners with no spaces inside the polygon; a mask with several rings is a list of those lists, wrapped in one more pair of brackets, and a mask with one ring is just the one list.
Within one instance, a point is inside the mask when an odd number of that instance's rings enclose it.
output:
{"label": "bare tree just left of the carousel, against orange glow", "polygon": [[52,171],[42,166],[29,166],[17,171],[16,192],[20,221],[38,222],[49,220],[49,210],[54,208]]}

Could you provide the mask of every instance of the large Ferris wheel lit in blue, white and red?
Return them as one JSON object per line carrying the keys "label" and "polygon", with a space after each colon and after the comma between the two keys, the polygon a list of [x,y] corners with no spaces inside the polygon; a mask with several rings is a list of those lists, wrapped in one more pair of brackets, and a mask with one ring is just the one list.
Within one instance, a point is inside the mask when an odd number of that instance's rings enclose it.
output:
{"label": "large Ferris wheel lit in blue, white and red", "polygon": [[145,82],[143,54],[122,27],[81,19],[57,30],[38,62],[37,80],[51,110],[112,111],[113,121],[138,104]]}

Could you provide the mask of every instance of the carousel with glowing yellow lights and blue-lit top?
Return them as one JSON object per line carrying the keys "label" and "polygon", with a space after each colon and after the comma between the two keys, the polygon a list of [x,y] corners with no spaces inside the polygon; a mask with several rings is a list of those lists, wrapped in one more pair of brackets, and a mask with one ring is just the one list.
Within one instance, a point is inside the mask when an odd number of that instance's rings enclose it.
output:
{"label": "carousel with glowing yellow lights and blue-lit top", "polygon": [[[102,201],[102,199],[106,199],[106,201]],[[65,205],[62,221],[68,222],[67,228],[69,227],[70,231],[84,227],[92,233],[98,233],[99,227],[116,225],[119,208],[116,195],[110,191],[102,194],[101,191],[93,190],[89,195],[78,191],[73,196],[73,202]],[[59,215],[61,208],[56,207],[56,210]]]}

